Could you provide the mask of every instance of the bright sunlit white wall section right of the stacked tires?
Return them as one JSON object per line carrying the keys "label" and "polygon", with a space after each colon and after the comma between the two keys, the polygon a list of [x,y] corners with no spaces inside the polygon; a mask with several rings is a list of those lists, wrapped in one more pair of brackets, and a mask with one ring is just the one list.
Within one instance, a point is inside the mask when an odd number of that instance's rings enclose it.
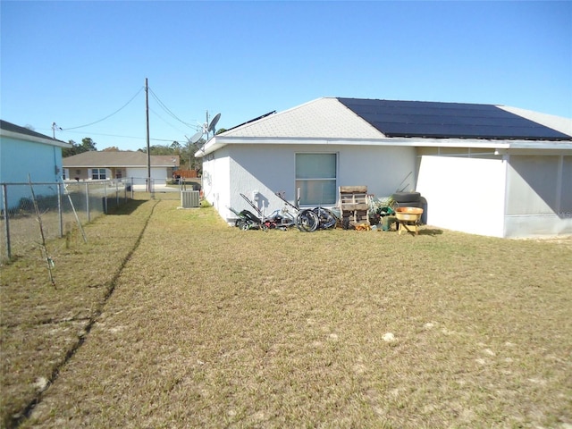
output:
{"label": "bright sunlit white wall section right of the stacked tires", "polygon": [[501,159],[422,156],[416,190],[427,200],[427,223],[503,237],[505,178]]}

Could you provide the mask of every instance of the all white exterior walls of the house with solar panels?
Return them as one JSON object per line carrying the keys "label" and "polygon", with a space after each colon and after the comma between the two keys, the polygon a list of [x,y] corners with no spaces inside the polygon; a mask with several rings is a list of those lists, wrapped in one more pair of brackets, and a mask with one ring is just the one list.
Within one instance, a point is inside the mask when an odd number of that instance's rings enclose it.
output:
{"label": "all white exterior walls of the house with solar panels", "polygon": [[377,197],[421,192],[431,226],[493,237],[572,233],[572,156],[562,155],[417,158],[414,147],[228,145],[204,159],[205,197],[230,221],[228,206],[255,212],[240,193],[254,200],[257,191],[255,203],[272,214],[283,206],[275,192],[295,201],[297,153],[337,154],[337,186],[366,185]]}

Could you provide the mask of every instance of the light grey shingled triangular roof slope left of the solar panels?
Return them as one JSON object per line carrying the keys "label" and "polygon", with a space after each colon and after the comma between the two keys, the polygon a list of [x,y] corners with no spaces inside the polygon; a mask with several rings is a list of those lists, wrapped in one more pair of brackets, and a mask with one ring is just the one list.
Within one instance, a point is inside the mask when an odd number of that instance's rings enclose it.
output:
{"label": "light grey shingled triangular roof slope left of the solar panels", "polygon": [[324,97],[298,105],[217,136],[288,139],[384,139],[385,136],[337,98]]}

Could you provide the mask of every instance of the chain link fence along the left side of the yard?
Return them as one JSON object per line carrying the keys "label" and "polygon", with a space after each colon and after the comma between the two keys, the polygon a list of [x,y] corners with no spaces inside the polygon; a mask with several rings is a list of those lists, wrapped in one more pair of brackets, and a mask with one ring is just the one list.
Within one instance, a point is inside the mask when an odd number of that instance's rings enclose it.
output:
{"label": "chain link fence along the left side of the yard", "polygon": [[[62,238],[78,222],[88,223],[133,198],[136,189],[132,182],[0,183],[1,262],[38,248],[42,241],[40,221],[46,240]],[[153,183],[150,188],[153,195]]]}

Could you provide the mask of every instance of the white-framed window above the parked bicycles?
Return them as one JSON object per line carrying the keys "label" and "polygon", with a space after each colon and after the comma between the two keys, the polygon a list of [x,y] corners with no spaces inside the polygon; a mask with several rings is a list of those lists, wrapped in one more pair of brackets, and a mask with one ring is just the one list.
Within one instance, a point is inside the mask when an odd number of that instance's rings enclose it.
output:
{"label": "white-framed window above the parked bicycles", "polygon": [[296,154],[296,189],[300,206],[336,203],[336,154]]}

